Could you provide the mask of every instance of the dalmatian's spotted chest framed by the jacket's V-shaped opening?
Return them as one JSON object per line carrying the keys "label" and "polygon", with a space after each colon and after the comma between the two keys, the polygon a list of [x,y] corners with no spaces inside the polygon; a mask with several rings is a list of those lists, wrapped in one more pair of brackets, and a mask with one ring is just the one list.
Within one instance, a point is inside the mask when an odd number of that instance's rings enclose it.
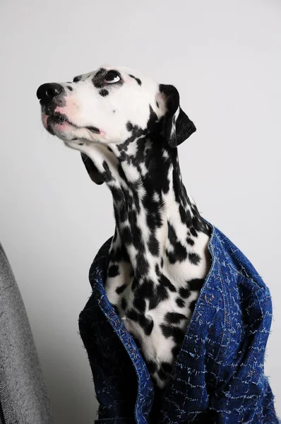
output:
{"label": "dalmatian's spotted chest framed by the jacket's V-shaped opening", "polygon": [[[167,258],[159,266],[151,266],[156,268],[157,278],[153,278],[151,270],[145,276],[136,277],[129,261],[112,260],[105,290],[109,302],[135,338],[157,386],[165,387],[203,278],[187,281],[189,275],[194,276],[194,269],[190,272],[191,266],[187,261],[178,263],[176,272]],[[202,276],[202,272],[198,276]]]}

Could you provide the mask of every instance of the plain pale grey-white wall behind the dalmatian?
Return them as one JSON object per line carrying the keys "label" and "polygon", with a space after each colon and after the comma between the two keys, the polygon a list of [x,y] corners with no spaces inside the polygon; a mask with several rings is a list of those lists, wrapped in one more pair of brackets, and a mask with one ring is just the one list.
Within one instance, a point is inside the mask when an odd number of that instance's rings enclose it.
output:
{"label": "plain pale grey-white wall behind the dalmatian", "polygon": [[173,83],[198,131],[179,148],[203,216],[253,262],[273,297],[265,373],[281,416],[278,0],[1,0],[0,240],[35,337],[56,424],[92,424],[78,314],[114,231],[112,199],[47,134],[35,93],[101,64]]}

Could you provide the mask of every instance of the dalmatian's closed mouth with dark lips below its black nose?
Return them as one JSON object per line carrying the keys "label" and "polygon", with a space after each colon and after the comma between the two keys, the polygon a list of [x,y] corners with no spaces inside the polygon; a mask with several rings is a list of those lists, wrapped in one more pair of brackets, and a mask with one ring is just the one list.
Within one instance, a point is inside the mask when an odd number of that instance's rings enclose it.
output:
{"label": "dalmatian's closed mouth with dark lips below its black nose", "polygon": [[102,131],[98,129],[96,126],[78,126],[73,124],[65,114],[61,113],[53,113],[53,114],[42,114],[42,122],[52,135],[58,135],[58,133],[66,133],[69,131],[75,131],[80,129],[88,129],[93,134],[102,134]]}

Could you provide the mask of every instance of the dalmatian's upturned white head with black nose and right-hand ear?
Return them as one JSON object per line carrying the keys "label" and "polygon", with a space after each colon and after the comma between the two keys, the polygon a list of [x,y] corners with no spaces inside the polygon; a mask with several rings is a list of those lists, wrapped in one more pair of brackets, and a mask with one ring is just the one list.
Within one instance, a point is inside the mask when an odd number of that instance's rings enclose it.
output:
{"label": "dalmatian's upturned white head with black nose and right-hand ear", "polygon": [[83,143],[122,145],[156,125],[164,141],[177,147],[196,130],[174,86],[117,66],[102,66],[72,83],[43,84],[37,98],[45,129],[78,150]]}

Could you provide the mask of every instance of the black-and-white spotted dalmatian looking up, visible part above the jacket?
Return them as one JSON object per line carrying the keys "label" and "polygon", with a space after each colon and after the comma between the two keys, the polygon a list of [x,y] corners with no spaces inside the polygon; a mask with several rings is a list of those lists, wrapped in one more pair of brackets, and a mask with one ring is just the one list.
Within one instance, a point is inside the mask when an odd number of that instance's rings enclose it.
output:
{"label": "black-and-white spotted dalmatian looking up, visible part above the jacket", "polygon": [[196,127],[174,86],[102,66],[37,90],[42,123],[112,192],[104,288],[163,389],[210,269],[210,225],[181,179],[177,146]]}

